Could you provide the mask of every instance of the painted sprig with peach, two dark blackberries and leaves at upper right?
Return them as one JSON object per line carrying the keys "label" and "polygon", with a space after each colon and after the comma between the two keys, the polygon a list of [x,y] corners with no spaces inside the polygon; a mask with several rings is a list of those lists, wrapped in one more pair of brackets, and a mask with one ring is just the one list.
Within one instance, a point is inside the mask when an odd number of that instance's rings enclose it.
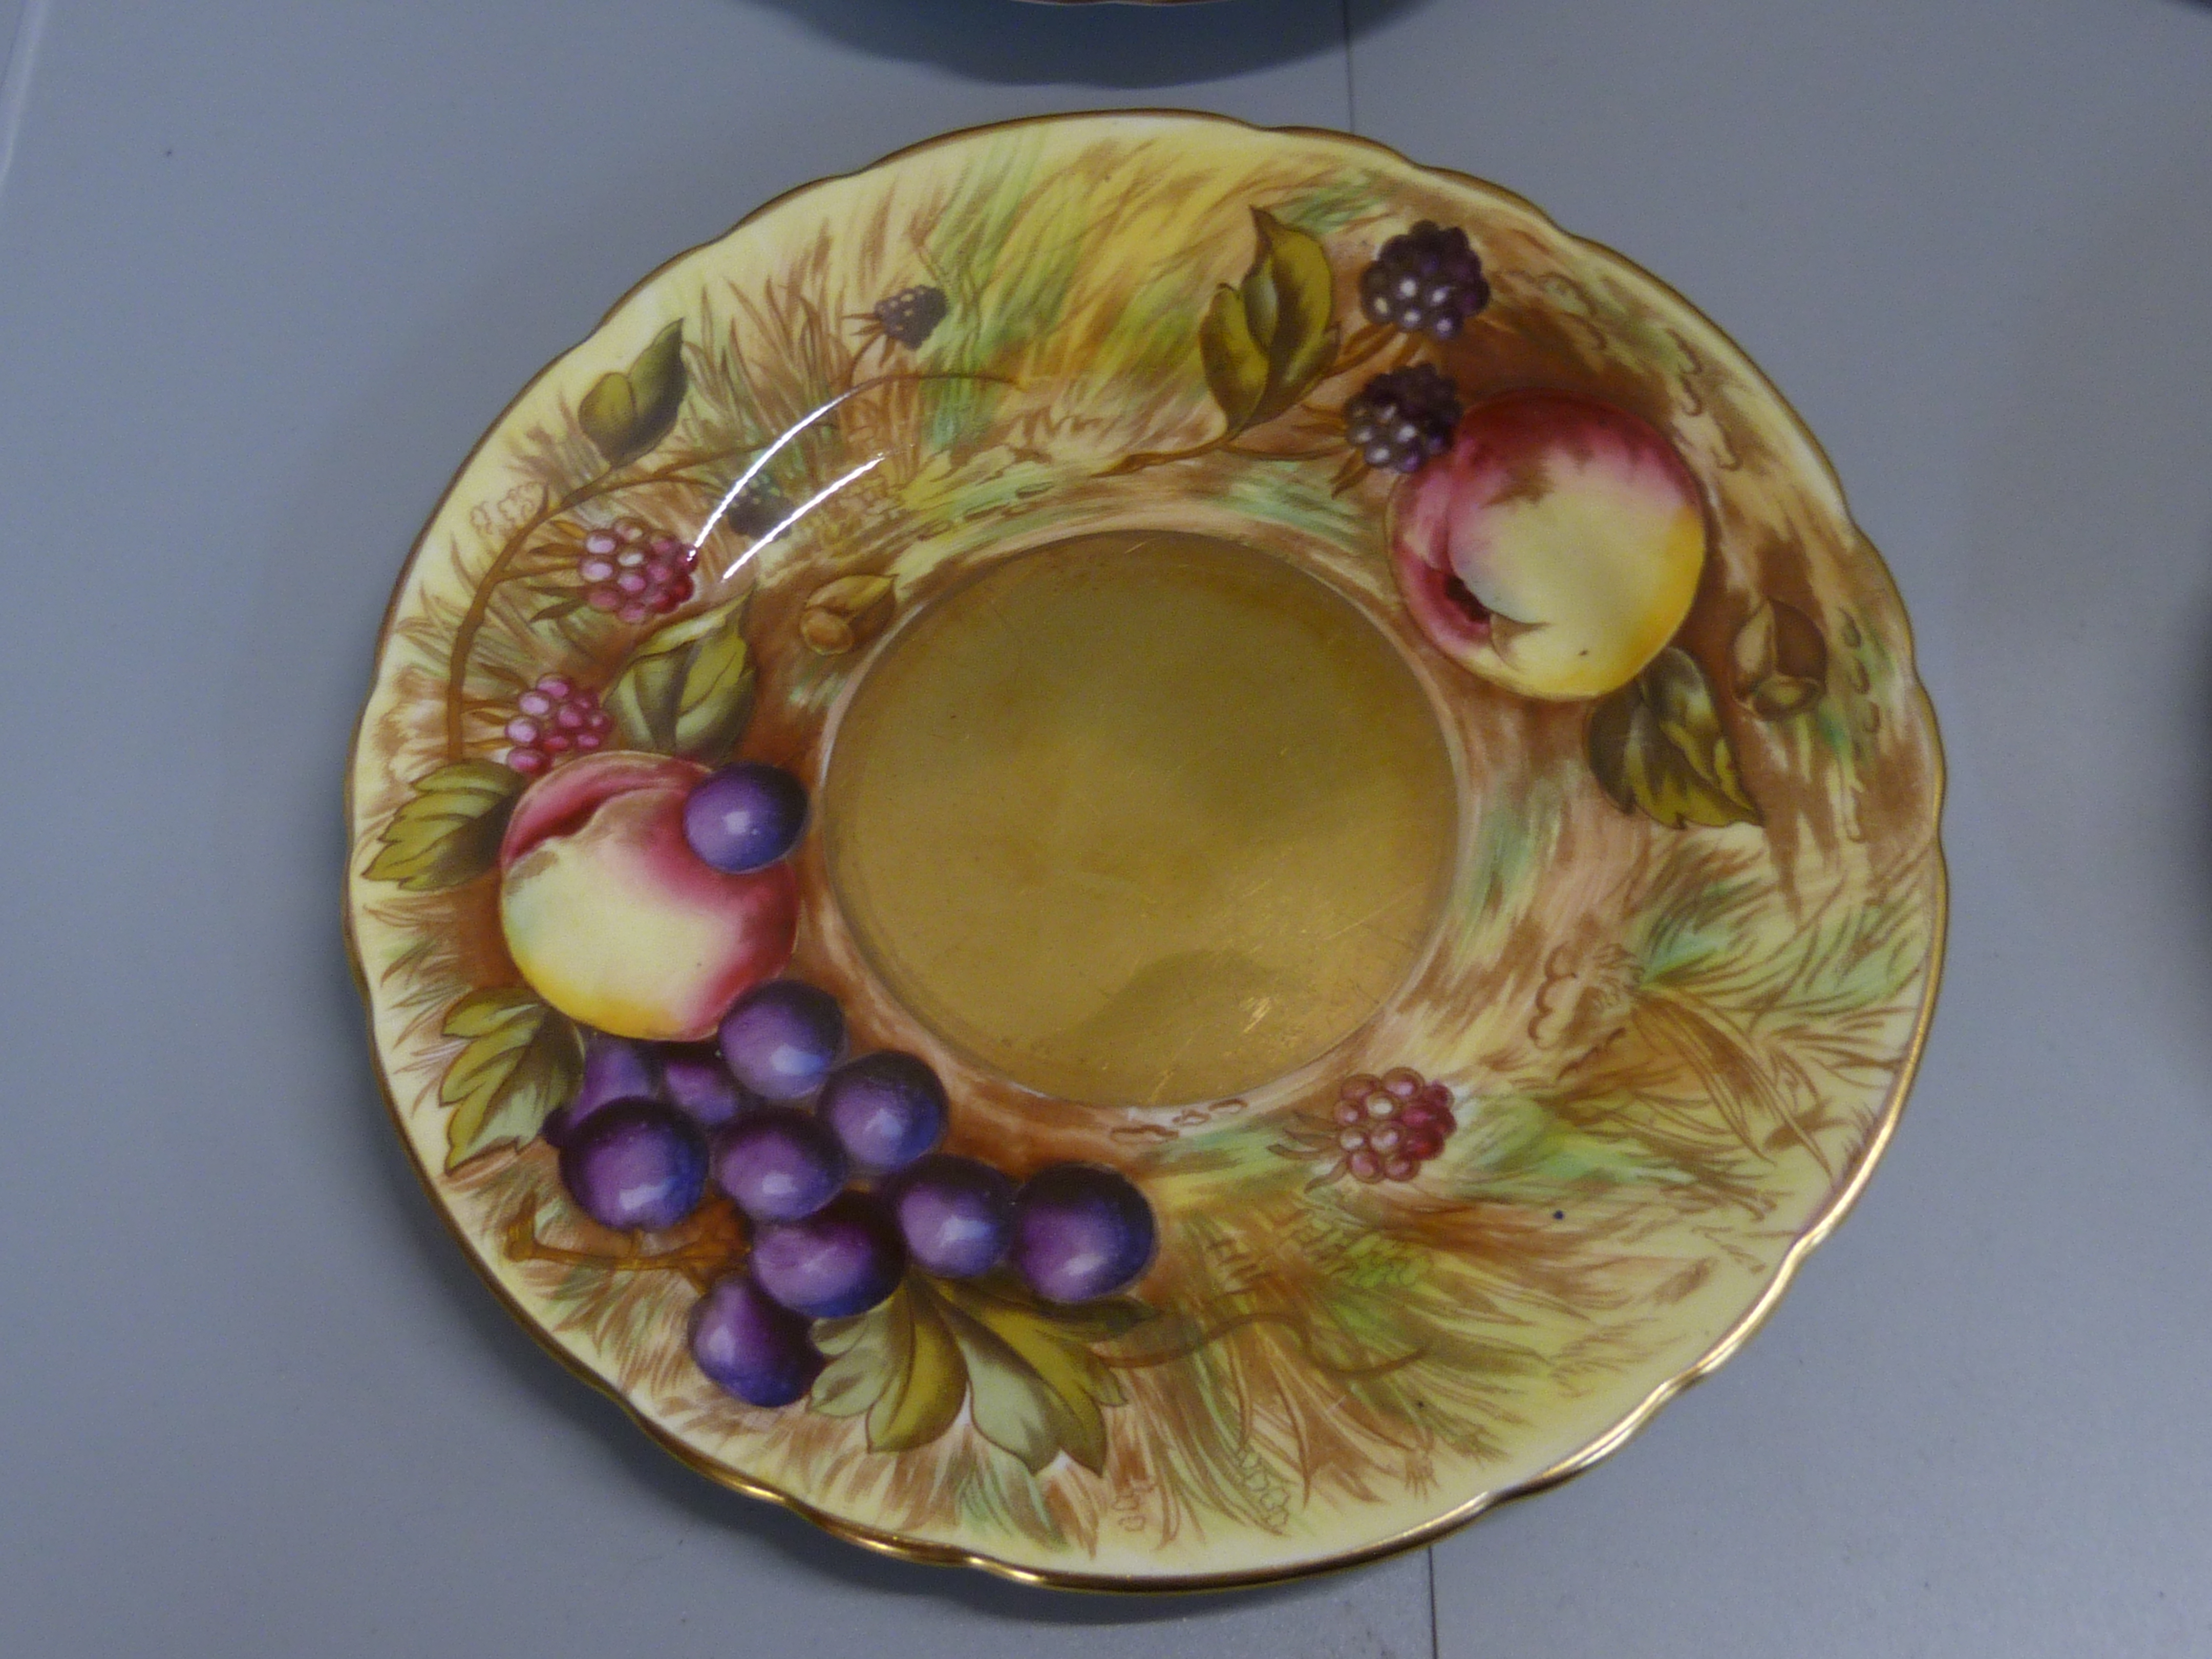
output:
{"label": "painted sprig with peach, two dark blackberries and leaves at upper right", "polygon": [[[1710,670],[1677,635],[1708,555],[1705,502],[1674,445],[1584,394],[1526,389],[1467,407],[1422,347],[1462,341],[1491,301],[1462,228],[1420,221],[1380,243],[1358,276],[1365,327],[1336,321],[1329,254],[1252,210],[1256,252],[1199,325],[1199,363],[1221,431],[1146,451],[1115,473],[1210,453],[1318,460],[1347,449],[1396,478],[1391,555],[1407,611],[1451,661],[1509,692],[1590,703],[1586,752],[1626,812],[1670,825],[1759,823]],[[1340,409],[1310,398],[1398,343]],[[1254,449],[1245,436],[1292,411],[1332,422],[1323,449]],[[1763,721],[1820,701],[1827,648],[1798,608],[1761,599],[1734,644],[1732,686]]]}

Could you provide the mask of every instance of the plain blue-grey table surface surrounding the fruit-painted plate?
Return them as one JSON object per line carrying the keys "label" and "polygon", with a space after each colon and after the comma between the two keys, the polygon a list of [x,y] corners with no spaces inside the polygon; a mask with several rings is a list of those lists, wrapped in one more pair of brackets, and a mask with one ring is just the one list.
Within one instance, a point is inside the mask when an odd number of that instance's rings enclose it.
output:
{"label": "plain blue-grey table surface surrounding the fruit-painted plate", "polygon": [[[2212,9],[0,0],[0,1650],[2212,1652]],[[1916,615],[1953,940],[1717,1380],[1429,1555],[900,1566],[515,1329],[369,1082],[338,774],[398,560],[637,274],[929,133],[1352,126],[1699,301]]]}

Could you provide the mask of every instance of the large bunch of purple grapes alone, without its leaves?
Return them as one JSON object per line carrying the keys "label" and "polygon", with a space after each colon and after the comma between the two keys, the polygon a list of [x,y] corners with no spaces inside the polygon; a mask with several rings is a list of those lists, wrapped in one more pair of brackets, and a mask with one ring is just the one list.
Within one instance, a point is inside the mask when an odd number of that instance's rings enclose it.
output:
{"label": "large bunch of purple grapes alone, without its leaves", "polygon": [[1137,1283],[1157,1228],[1097,1164],[1015,1186],[940,1152],[945,1084],[920,1057],[847,1057],[836,1000],[770,980],[712,1044],[591,1037],[575,1099],[546,1119],[568,1194],[622,1230],[672,1228],[708,1190],[750,1221],[752,1252],[690,1318],[699,1369],[748,1405],[799,1400],[823,1369],[812,1323],[883,1303],[909,1265],[938,1279],[1011,1267],[1053,1303]]}

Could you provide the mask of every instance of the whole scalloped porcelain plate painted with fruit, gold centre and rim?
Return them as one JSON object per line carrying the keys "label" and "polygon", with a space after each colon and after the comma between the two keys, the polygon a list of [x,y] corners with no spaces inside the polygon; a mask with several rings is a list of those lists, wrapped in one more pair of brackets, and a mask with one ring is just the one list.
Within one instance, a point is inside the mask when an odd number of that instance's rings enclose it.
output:
{"label": "whole scalloped porcelain plate painted with fruit, gold centre and rim", "polygon": [[684,1462],[1241,1584],[1752,1332],[1896,1124],[1938,792],[1889,575],[1659,281],[1360,139],[1040,119],[493,422],[347,914],[453,1234]]}

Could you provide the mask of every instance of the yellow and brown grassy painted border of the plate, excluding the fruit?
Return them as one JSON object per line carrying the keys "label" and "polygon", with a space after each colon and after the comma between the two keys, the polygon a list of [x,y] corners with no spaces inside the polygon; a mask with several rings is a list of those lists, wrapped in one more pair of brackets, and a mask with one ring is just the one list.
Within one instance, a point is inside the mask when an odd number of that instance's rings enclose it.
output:
{"label": "yellow and brown grassy painted border of the plate, excluding the fruit", "polygon": [[[1327,436],[1314,409],[1407,361],[1343,354],[1367,338],[1360,270],[1416,221],[1462,226],[1493,290],[1425,356],[1469,405],[1528,387],[1604,398],[1663,431],[1697,480],[1712,551],[1694,604],[1663,661],[1608,697],[1515,697],[1429,648],[1389,551],[1407,484],[1305,458]],[[1305,343],[1298,385],[1237,414],[1201,336],[1270,257],[1281,281],[1281,261],[1325,257],[1334,332]],[[909,349],[874,307],[922,285],[949,316]],[[1276,369],[1298,349],[1281,345]],[[836,420],[810,420],[832,403]],[[807,511],[737,533],[739,480]],[[617,509],[630,529],[699,522],[717,495],[697,591],[668,617],[624,633],[562,588],[577,580],[564,535]],[[1035,1469],[978,1431],[973,1394],[900,1449],[872,1449],[880,1413],[717,1394],[684,1349],[697,1285],[593,1256],[646,1243],[568,1225],[531,1144],[573,1086],[571,1037],[549,1011],[542,1031],[500,1024],[531,995],[500,942],[498,825],[473,847],[418,836],[411,865],[394,863],[396,825],[440,768],[520,787],[502,781],[500,728],[549,666],[602,688],[613,745],[708,754],[699,741],[734,737],[821,801],[825,732],[909,613],[1009,553],[1161,529],[1323,577],[1442,703],[1462,818],[1440,942],[1287,1077],[1228,1102],[1091,1108],[1013,1086],[907,1013],[823,856],[794,854],[790,971],[847,1000],[863,1046],[947,1075],[953,1150],[998,1150],[1015,1175],[1106,1161],[1152,1201],[1161,1254],[1124,1298],[1152,1338],[993,1307],[1029,1321],[1022,1340],[1060,1345],[1046,1374],[1091,1380],[1084,1398],[1035,1394],[1057,1425],[1035,1431]],[[741,706],[655,714],[635,668],[655,639],[661,664],[721,648],[697,672],[741,672]],[[721,726],[699,739],[697,721]],[[1621,743],[1650,748],[1624,761]],[[1179,111],[942,135],[792,190],[646,276],[500,414],[409,553],[345,801],[345,938],[378,1082],[509,1312],[723,1486],[872,1551],[1084,1590],[1356,1566],[1624,1444],[1759,1329],[1858,1199],[1920,1062],[1947,931],[1942,748],[1909,619],[1827,456],[1745,354],[1498,186],[1352,135]],[[482,1071],[487,1031],[511,1053],[471,1093],[453,1073]],[[1449,1095],[1458,1128],[1418,1177],[1363,1183],[1332,1168],[1327,1113],[1347,1075],[1391,1066]],[[1276,1234],[1305,1225],[1310,1261],[1270,1256],[1234,1221],[1197,1228],[1223,1192]],[[566,1243],[549,1254],[540,1223]],[[967,1318],[956,1301],[898,1318]],[[1336,1440],[1316,1447],[1316,1429]]]}

